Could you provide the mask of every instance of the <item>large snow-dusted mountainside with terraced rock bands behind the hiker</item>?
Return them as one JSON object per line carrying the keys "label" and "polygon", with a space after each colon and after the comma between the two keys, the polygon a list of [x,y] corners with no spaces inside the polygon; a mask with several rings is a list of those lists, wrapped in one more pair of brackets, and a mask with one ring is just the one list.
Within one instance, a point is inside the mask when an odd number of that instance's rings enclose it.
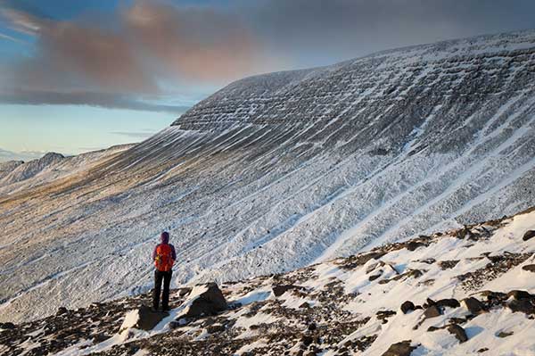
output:
{"label": "large snow-dusted mountainside with terraced rock bands behind the hiker", "polygon": [[148,291],[163,229],[178,286],[526,209],[534,83],[535,31],[401,48],[237,81],[139,145],[0,186],[0,321]]}

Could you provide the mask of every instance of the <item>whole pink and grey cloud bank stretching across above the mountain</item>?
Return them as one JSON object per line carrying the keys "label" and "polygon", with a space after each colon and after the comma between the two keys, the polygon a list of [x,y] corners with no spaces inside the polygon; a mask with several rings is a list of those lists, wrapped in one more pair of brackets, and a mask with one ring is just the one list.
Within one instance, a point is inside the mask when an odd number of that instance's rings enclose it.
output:
{"label": "whole pink and grey cloud bank stretching across above the mountain", "polygon": [[179,112],[140,98],[207,95],[259,72],[535,28],[533,13],[532,0],[134,0],[57,20],[29,1],[0,0],[7,26],[36,38],[31,56],[0,62],[0,101]]}

